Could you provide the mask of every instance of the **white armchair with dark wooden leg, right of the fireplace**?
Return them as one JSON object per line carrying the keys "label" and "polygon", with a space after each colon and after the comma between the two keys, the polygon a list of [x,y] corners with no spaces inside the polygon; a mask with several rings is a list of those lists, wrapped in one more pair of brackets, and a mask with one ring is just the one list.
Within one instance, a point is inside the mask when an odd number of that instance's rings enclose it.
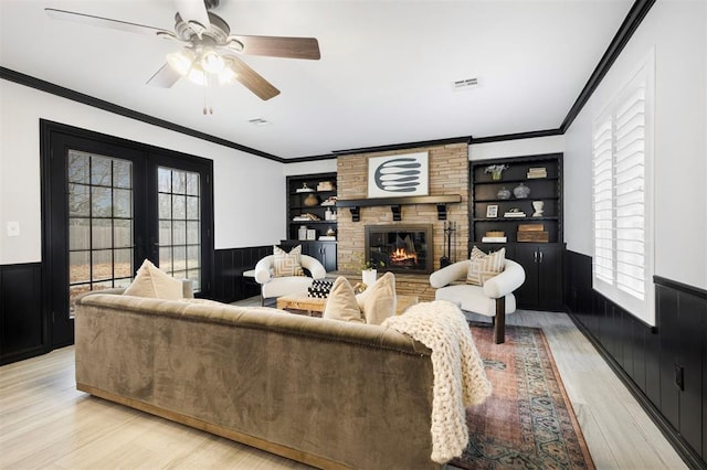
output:
{"label": "white armchair with dark wooden leg, right of the fireplace", "polygon": [[454,263],[430,275],[430,284],[436,288],[436,300],[449,300],[462,310],[492,317],[494,321],[494,341],[505,341],[506,314],[516,311],[516,297],[513,291],[523,286],[526,271],[518,263],[505,260],[503,273],[488,279],[484,287],[463,281],[471,260]]}

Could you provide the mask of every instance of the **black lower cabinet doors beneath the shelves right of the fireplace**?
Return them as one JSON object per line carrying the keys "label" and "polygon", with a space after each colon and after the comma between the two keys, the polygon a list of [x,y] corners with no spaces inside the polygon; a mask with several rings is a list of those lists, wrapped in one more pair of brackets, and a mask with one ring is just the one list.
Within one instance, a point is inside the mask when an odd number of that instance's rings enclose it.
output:
{"label": "black lower cabinet doors beneath the shelves right of the fireplace", "polygon": [[562,246],[518,244],[514,260],[526,270],[526,281],[515,292],[518,308],[561,311]]}

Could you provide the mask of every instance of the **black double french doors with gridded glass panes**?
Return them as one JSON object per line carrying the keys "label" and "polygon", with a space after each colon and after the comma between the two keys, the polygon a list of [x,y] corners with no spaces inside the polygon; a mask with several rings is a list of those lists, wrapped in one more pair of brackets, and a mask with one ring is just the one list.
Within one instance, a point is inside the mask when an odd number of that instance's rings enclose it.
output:
{"label": "black double french doors with gridded glass panes", "polygon": [[73,302],[126,287],[144,259],[210,288],[212,163],[42,121],[49,349],[73,342]]}

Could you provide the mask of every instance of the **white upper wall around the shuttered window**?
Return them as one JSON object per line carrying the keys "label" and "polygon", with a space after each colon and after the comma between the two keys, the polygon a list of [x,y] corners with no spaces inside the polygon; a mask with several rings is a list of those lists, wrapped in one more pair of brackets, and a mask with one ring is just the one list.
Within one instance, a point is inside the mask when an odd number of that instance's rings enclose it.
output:
{"label": "white upper wall around the shuttered window", "polygon": [[707,2],[658,1],[564,135],[564,238],[591,255],[591,125],[655,47],[655,274],[707,288]]}

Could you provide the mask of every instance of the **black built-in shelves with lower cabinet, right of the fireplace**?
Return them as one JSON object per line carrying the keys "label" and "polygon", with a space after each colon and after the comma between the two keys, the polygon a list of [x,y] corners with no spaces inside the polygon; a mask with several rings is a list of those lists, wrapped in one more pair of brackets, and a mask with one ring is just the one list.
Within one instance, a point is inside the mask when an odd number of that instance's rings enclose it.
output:
{"label": "black built-in shelves with lower cabinet, right of the fireplace", "polygon": [[562,154],[473,161],[469,172],[469,250],[505,247],[526,270],[518,308],[562,311]]}

